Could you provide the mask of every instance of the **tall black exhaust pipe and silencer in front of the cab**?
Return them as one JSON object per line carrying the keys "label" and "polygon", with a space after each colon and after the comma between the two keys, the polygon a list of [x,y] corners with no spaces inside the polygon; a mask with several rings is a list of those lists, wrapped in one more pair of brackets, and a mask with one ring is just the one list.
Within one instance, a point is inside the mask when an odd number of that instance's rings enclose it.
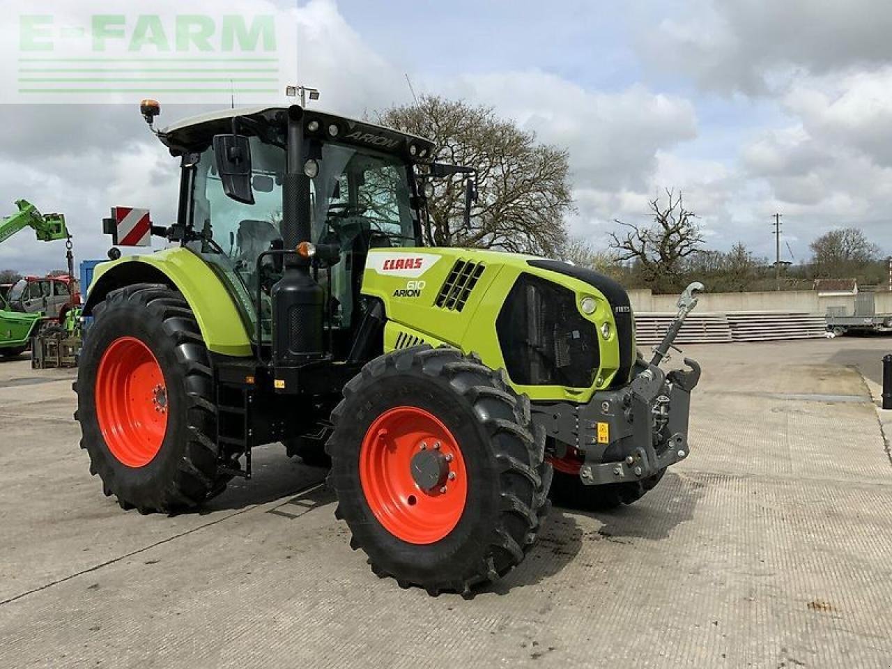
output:
{"label": "tall black exhaust pipe and silencer in front of the cab", "polygon": [[[310,259],[297,254],[297,245],[310,242],[310,178],[303,173],[303,110],[288,109],[288,148],[282,188],[285,273],[272,287],[273,365],[298,367],[324,354],[323,307],[325,291],[310,276]],[[290,389],[289,389],[290,390]]]}

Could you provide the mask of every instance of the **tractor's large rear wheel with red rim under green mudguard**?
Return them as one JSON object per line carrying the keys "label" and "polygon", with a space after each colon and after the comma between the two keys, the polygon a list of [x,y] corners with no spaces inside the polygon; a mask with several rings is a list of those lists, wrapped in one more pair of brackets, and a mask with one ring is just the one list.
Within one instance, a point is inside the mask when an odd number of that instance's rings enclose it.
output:
{"label": "tractor's large rear wheel with red rim under green mudguard", "polygon": [[192,310],[165,285],[109,293],[78,368],[81,448],[106,495],[172,512],[222,491],[211,362]]}

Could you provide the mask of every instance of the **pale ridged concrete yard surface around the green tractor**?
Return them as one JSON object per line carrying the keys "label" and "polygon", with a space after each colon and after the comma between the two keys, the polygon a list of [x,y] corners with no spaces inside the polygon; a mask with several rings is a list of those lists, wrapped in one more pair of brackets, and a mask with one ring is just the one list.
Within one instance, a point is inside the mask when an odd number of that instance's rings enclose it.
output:
{"label": "pale ridged concrete yard surface around the green tractor", "polygon": [[325,472],[279,445],[200,511],[121,510],[73,372],[0,362],[0,666],[888,669],[889,348],[687,347],[690,458],[631,507],[555,508],[470,600],[378,579]]}

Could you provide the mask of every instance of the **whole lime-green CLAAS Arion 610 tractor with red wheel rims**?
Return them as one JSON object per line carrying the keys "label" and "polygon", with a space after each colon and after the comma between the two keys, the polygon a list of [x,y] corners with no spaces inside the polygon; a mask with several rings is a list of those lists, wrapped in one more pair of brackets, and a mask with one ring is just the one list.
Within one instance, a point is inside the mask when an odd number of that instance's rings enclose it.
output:
{"label": "whole lime-green CLAAS Arion 610 tractor with red wheel rims", "polygon": [[[142,112],[153,127],[160,107]],[[628,503],[686,457],[699,368],[658,363],[692,295],[648,363],[611,279],[425,248],[432,180],[465,179],[468,202],[475,184],[421,137],[296,105],[157,135],[181,182],[151,232],[177,245],[96,268],[76,384],[90,470],[122,508],[194,508],[282,442],[330,466],[376,574],[467,595],[523,560],[549,485]],[[116,244],[135,236],[121,218]]]}

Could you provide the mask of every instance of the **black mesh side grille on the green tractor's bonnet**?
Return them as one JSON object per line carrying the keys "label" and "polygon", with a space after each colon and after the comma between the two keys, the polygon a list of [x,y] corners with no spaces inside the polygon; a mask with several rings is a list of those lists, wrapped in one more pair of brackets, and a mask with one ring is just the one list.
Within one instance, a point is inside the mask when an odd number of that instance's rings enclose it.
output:
{"label": "black mesh side grille on the green tractor's bonnet", "polygon": [[508,376],[516,384],[594,384],[600,365],[598,329],[576,308],[573,291],[522,274],[499,313],[496,332]]}

